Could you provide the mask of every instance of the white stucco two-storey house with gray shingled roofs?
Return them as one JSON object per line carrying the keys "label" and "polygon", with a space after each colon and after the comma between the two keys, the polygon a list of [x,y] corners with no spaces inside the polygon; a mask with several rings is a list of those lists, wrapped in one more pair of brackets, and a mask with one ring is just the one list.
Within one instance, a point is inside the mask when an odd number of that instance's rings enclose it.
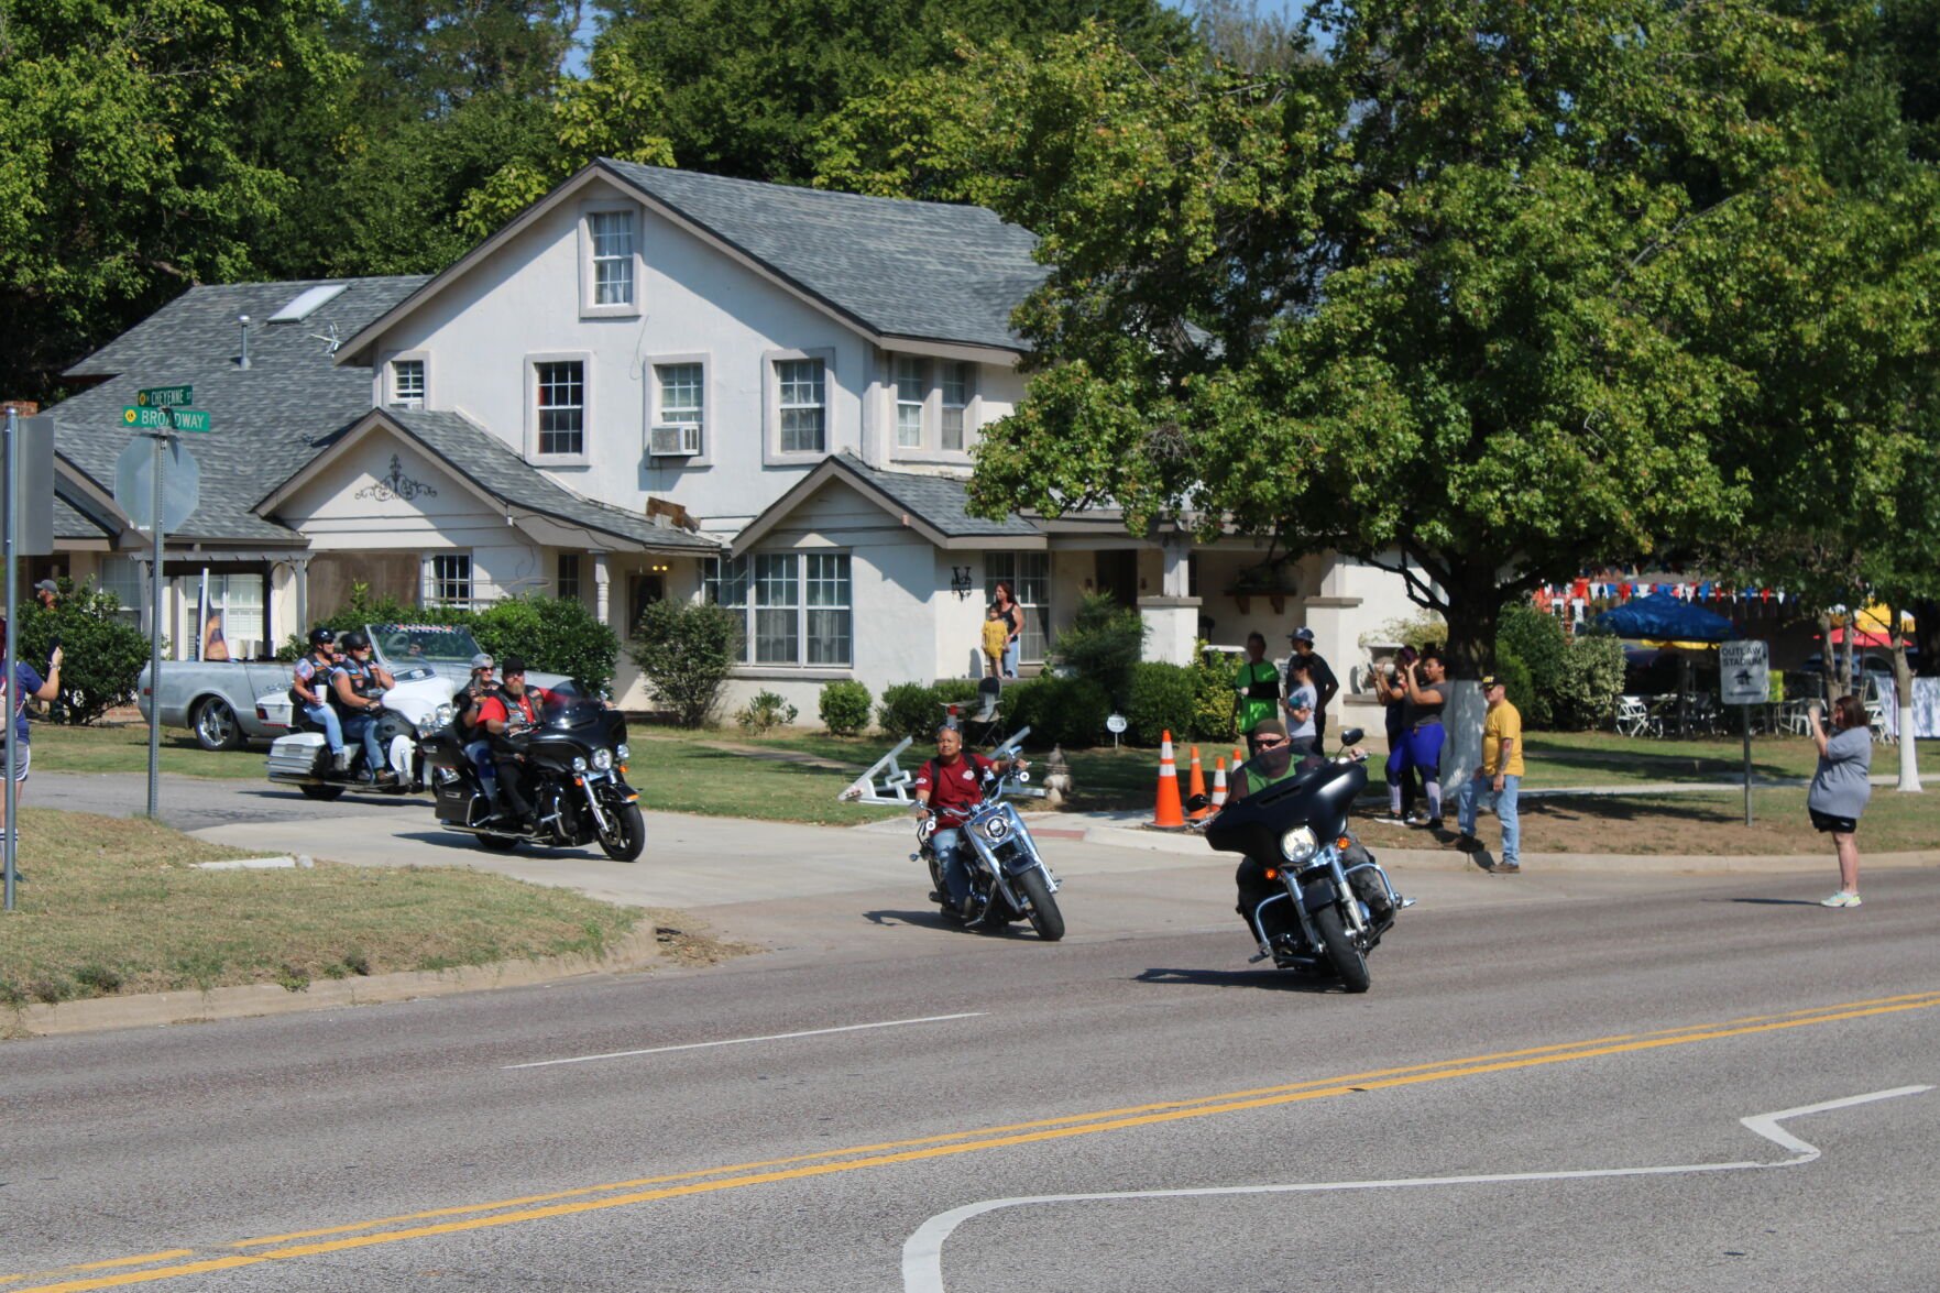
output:
{"label": "white stucco two-storey house with gray shingled roofs", "polygon": [[[813,714],[828,680],[980,672],[1003,579],[1026,670],[1096,590],[1141,610],[1152,658],[1253,629],[1284,654],[1308,625],[1346,681],[1358,639],[1408,613],[1399,577],[1116,514],[968,514],[972,450],[1024,392],[1032,247],[982,208],[596,161],[431,278],[194,289],[70,373],[101,384],[52,410],[56,565],[140,598],[113,414],[194,381],[217,489],[169,536],[177,643],[202,569],[260,584],[270,645],[351,580],[541,588],[621,633],[650,600],[710,598],[745,615],[735,697]],[[646,703],[629,662],[619,689]]]}

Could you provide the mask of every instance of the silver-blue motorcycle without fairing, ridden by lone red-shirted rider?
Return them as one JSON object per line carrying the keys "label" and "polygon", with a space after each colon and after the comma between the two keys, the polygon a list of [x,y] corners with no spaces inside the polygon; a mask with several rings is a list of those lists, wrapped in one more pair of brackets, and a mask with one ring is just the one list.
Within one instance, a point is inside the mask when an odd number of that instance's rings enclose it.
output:
{"label": "silver-blue motorcycle without fairing, ridden by lone red-shirted rider", "polygon": [[[1001,930],[1013,920],[1028,920],[1048,944],[1065,936],[1065,914],[1057,909],[1057,876],[1044,864],[1038,843],[1030,837],[1024,817],[1009,802],[1011,796],[1042,796],[1042,790],[1024,790],[1030,773],[1017,757],[1017,746],[1024,738],[1018,732],[991,751],[997,767],[984,773],[984,800],[972,810],[968,819],[956,827],[962,837],[958,854],[970,872],[970,912],[964,914],[949,901],[949,885],[943,881],[943,862],[937,858],[933,839],[937,819],[925,815],[916,827],[918,850],[912,862],[929,864],[931,893],[943,912],[960,920],[970,930]],[[898,747],[900,749],[900,747]]]}

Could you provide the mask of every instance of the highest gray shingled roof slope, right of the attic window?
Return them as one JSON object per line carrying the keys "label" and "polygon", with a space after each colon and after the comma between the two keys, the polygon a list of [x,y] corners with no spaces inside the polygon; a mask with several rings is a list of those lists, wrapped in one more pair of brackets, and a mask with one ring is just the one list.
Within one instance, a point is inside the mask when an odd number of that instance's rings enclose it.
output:
{"label": "highest gray shingled roof slope, right of the attic window", "polygon": [[1011,311],[1048,270],[1036,235],[987,208],[599,165],[871,332],[1024,349]]}

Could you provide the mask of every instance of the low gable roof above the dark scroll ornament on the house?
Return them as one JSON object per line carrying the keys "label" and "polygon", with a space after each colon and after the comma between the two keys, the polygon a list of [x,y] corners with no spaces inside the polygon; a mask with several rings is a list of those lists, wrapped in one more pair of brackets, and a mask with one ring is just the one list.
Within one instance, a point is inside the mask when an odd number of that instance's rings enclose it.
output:
{"label": "low gable roof above the dark scroll ornament on the house", "polygon": [[299,470],[275,483],[256,501],[258,514],[274,513],[330,462],[338,460],[374,427],[388,427],[415,443],[446,472],[466,480],[473,489],[506,509],[506,514],[526,513],[566,526],[594,530],[646,551],[704,553],[722,549],[718,540],[691,534],[677,526],[662,526],[646,516],[611,503],[572,493],[545,472],[520,458],[504,441],[464,414],[427,410],[374,408],[336,435],[332,443]]}

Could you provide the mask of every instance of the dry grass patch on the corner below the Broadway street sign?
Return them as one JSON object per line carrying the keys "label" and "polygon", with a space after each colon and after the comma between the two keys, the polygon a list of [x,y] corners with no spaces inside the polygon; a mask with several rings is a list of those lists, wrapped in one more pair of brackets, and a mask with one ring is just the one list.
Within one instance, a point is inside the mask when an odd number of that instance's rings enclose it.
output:
{"label": "dry grass patch on the corner below the Broadway street sign", "polygon": [[23,810],[0,1008],[598,953],[646,916],[462,868],[192,866],[235,856],[144,819]]}

